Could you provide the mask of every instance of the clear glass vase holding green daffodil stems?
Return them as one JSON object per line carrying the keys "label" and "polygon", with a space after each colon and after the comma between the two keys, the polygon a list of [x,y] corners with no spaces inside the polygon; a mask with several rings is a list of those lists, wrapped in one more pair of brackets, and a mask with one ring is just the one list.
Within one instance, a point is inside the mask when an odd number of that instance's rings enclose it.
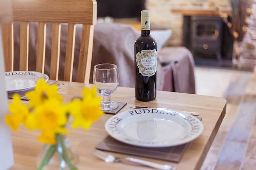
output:
{"label": "clear glass vase holding green daffodil stems", "polygon": [[55,145],[44,145],[36,160],[37,170],[77,170],[79,156],[66,136],[57,134]]}

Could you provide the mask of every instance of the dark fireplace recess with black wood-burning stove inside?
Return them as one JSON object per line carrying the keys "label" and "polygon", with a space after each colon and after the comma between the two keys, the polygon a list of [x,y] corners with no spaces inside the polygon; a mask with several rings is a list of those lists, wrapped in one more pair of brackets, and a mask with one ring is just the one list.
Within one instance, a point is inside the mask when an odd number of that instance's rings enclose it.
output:
{"label": "dark fireplace recess with black wood-burning stove inside", "polygon": [[221,17],[184,16],[183,46],[198,65],[232,66],[233,40]]}

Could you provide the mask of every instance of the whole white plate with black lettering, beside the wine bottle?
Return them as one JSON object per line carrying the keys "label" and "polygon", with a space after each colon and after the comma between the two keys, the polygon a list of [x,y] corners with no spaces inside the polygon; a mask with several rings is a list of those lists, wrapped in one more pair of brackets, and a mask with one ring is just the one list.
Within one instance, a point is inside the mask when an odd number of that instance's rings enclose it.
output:
{"label": "whole white plate with black lettering, beside the wine bottle", "polygon": [[193,141],[202,122],[190,114],[163,108],[141,108],[110,117],[107,133],[118,141],[142,147],[170,147]]}

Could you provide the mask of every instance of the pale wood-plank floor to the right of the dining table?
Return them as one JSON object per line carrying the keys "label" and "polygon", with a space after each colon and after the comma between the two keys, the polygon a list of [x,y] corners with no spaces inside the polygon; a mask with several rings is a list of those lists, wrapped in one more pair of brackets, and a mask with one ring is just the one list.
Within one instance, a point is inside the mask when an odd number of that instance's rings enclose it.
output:
{"label": "pale wood-plank floor to the right of the dining table", "polygon": [[196,93],[224,97],[227,112],[201,170],[256,170],[256,74],[200,68]]}

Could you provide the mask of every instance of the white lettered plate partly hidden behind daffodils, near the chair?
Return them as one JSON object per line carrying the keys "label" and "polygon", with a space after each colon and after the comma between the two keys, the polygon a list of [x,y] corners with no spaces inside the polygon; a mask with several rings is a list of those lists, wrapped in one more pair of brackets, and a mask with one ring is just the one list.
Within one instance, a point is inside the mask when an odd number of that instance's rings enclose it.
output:
{"label": "white lettered plate partly hidden behind daffodils, near the chair", "polygon": [[46,74],[36,71],[10,71],[5,72],[6,91],[18,92],[36,86],[38,79],[49,80]]}

